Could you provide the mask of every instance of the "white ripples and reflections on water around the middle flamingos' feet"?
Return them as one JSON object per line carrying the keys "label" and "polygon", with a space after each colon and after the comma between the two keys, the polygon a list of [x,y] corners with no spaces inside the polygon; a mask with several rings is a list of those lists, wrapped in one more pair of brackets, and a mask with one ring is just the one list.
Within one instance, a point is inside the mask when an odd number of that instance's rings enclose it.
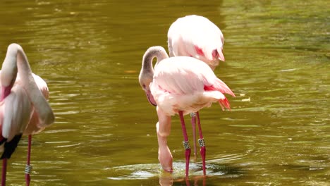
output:
{"label": "white ripples and reflections on water around the middle flamingos' feet", "polygon": [[116,166],[105,168],[110,175],[109,180],[148,180],[159,177],[160,185],[182,184],[186,185],[206,185],[207,179],[213,178],[239,178],[244,175],[244,171],[239,167],[231,165],[221,165],[221,159],[214,159],[207,162],[207,175],[202,172],[202,163],[190,163],[190,176],[185,178],[185,163],[174,162],[173,173],[161,170],[159,163],[156,164],[133,164],[128,166]]}

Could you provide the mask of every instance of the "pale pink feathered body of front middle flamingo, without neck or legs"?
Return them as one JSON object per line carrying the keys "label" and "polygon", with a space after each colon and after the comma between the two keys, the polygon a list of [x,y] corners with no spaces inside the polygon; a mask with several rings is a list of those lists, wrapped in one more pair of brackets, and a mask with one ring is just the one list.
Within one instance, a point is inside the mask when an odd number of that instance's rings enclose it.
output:
{"label": "pale pink feathered body of front middle flamingo, without neck or legs", "polygon": [[166,58],[157,64],[150,90],[157,106],[169,116],[178,111],[183,115],[196,112],[216,101],[230,109],[223,93],[234,96],[207,64],[186,56]]}

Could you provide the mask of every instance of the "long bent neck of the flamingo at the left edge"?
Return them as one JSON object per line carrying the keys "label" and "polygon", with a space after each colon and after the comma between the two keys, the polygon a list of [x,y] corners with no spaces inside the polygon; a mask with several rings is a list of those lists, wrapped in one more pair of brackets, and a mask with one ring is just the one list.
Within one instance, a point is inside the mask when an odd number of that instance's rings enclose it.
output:
{"label": "long bent neck of the flamingo at the left edge", "polygon": [[39,115],[40,125],[54,123],[54,113],[35,83],[32,70],[22,47],[18,44],[9,45],[7,55],[13,56],[9,57],[9,59],[11,59],[10,61],[6,61],[5,59],[3,68],[4,66],[17,66],[22,85],[27,92],[27,96],[32,101],[35,111],[37,111]]}

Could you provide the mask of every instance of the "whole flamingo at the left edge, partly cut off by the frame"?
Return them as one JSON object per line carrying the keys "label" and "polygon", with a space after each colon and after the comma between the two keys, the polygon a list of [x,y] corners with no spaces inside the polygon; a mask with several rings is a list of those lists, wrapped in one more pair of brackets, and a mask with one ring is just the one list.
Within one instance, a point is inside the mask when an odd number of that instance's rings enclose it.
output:
{"label": "whole flamingo at the left edge, partly cut off by the frame", "polygon": [[[6,185],[7,159],[11,158],[20,137],[23,133],[29,135],[27,166],[30,166],[31,135],[54,123],[55,117],[46,99],[47,84],[32,73],[19,44],[8,46],[0,72],[0,83],[1,185]],[[30,175],[25,175],[25,180],[30,185]]]}

